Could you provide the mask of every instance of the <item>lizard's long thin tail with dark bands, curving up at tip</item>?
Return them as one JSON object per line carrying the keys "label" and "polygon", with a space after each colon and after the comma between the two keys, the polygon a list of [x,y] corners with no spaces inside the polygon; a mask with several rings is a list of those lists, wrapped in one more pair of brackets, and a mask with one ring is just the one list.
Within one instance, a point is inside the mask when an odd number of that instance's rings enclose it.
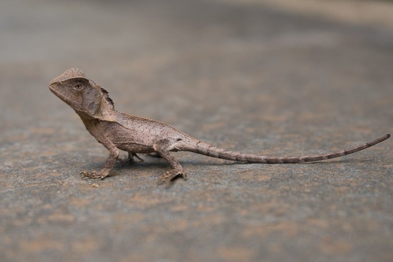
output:
{"label": "lizard's long thin tail with dark bands, curving up at tip", "polygon": [[363,145],[356,146],[351,149],[342,150],[338,152],[333,152],[325,155],[315,155],[315,156],[298,156],[298,157],[274,157],[274,156],[257,156],[243,154],[240,152],[228,151],[222,148],[212,146],[204,142],[197,142],[196,146],[181,148],[184,151],[191,151],[204,156],[209,156],[213,158],[220,158],[226,160],[233,160],[239,162],[247,163],[301,163],[301,162],[311,162],[320,161],[325,159],[337,158],[345,155],[352,154],[354,152],[363,150],[367,147],[378,144],[390,137],[390,134],[384,135],[374,141],[365,143]]}

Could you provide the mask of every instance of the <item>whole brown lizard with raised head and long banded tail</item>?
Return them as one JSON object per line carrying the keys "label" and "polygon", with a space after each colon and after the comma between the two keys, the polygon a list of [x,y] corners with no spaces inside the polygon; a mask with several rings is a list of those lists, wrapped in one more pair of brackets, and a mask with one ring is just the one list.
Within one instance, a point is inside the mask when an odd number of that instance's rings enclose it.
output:
{"label": "whole brown lizard with raised head and long banded tail", "polygon": [[[357,147],[316,156],[274,157],[248,155],[228,151],[192,138],[176,128],[155,120],[131,116],[114,110],[108,92],[93,80],[85,77],[82,70],[68,69],[54,78],[49,89],[80,116],[88,132],[103,144],[110,154],[101,171],[82,171],[83,177],[108,176],[119,158],[119,150],[128,152],[124,162],[133,162],[136,154],[155,153],[163,157],[171,170],[158,178],[158,182],[169,182],[177,176],[186,178],[179,162],[169,151],[190,151],[197,154],[247,163],[300,163],[341,157],[373,146],[390,137],[389,134]],[[141,159],[142,160],[142,159]]]}

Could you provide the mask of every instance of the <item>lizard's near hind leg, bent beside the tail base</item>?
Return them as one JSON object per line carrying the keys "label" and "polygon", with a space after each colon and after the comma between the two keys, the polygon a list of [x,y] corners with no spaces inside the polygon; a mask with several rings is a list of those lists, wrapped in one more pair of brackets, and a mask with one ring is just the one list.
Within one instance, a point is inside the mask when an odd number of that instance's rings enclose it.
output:
{"label": "lizard's near hind leg, bent beside the tail base", "polygon": [[161,175],[157,181],[158,184],[165,182],[168,185],[169,182],[175,177],[183,176],[183,178],[186,179],[187,175],[184,172],[180,163],[174,157],[172,157],[169,154],[169,152],[166,150],[167,143],[168,143],[167,140],[160,140],[154,143],[153,148],[158,153],[158,155],[163,157],[168,162],[168,164],[172,167],[171,170],[166,171],[163,175]]}

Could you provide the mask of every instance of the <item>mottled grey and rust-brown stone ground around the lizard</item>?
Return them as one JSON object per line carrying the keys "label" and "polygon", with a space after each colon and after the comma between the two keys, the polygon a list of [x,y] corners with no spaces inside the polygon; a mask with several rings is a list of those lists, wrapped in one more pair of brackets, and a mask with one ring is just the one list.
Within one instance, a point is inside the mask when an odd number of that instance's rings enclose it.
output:
{"label": "mottled grey and rust-brown stone ground around the lizard", "polygon": [[117,110],[231,150],[320,154],[393,130],[388,26],[257,1],[2,2],[1,261],[393,260],[392,139],[309,164],[178,152],[189,180],[170,188],[145,156],[82,180],[108,152],[48,89],[72,67]]}

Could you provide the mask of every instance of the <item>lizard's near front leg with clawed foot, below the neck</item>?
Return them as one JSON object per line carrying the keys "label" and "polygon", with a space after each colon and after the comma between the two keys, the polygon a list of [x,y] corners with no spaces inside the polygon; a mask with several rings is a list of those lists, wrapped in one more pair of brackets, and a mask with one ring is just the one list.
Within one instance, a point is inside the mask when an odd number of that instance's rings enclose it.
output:
{"label": "lizard's near front leg with clawed foot, below the neck", "polygon": [[82,178],[84,178],[84,177],[93,178],[93,179],[106,178],[108,176],[108,174],[110,173],[110,171],[115,166],[115,164],[119,158],[119,155],[120,155],[119,149],[109,139],[107,139],[107,138],[100,139],[99,142],[101,144],[103,144],[105,146],[105,148],[108,149],[110,152],[108,158],[106,159],[106,163],[105,163],[104,167],[99,172],[93,170],[90,173],[85,170],[82,170],[81,171],[81,174],[83,175]]}

